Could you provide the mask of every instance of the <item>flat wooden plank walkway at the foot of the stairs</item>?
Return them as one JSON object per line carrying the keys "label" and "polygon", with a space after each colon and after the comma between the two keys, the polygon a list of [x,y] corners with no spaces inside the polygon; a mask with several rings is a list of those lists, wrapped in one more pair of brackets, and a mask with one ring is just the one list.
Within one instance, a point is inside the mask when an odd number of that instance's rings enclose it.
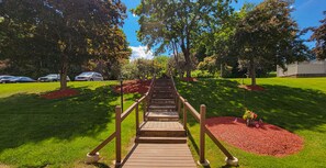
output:
{"label": "flat wooden plank walkway at the foot of the stairs", "polygon": [[187,144],[138,144],[124,168],[196,168]]}

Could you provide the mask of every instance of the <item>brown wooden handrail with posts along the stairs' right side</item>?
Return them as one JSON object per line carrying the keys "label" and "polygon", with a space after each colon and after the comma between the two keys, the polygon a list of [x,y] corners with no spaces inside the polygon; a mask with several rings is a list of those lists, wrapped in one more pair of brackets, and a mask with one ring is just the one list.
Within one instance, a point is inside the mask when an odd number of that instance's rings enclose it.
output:
{"label": "brown wooden handrail with posts along the stairs' right side", "polygon": [[[227,160],[237,160],[221,143],[220,141],[213,135],[213,133],[205,126],[205,113],[206,108],[204,104],[200,107],[201,112],[199,113],[188,101],[187,99],[182,98],[182,96],[178,92],[176,88],[176,83],[173,77],[171,76],[172,86],[176,91],[176,96],[178,97],[178,111],[181,112],[181,104],[183,104],[183,127],[187,130],[187,111],[189,110],[191,115],[200,123],[200,160],[202,165],[207,165],[205,160],[205,134],[214,142],[214,144],[222,150],[222,153],[227,157]],[[227,161],[227,164],[229,164]]]}

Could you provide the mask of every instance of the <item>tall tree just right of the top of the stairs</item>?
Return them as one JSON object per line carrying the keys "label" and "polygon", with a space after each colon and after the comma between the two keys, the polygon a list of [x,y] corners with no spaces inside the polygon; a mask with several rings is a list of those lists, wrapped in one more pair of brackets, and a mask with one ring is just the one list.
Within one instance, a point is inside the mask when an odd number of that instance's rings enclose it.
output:
{"label": "tall tree just right of the top of the stairs", "polygon": [[232,12],[231,2],[232,0],[143,0],[133,10],[140,16],[138,40],[149,48],[158,45],[156,54],[170,49],[177,56],[182,52],[187,77],[191,77],[191,48],[195,40],[207,31],[211,20],[223,20]]}

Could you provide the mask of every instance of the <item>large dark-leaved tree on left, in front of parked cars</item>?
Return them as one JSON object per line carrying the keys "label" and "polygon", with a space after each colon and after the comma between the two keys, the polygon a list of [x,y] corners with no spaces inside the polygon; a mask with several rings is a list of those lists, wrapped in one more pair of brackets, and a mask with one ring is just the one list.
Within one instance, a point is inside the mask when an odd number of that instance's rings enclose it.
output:
{"label": "large dark-leaved tree on left, in front of parked cars", "polygon": [[92,57],[108,60],[127,56],[119,27],[125,10],[120,0],[3,0],[0,15],[4,21],[0,26],[4,37],[1,36],[0,48],[14,61],[46,56],[47,63],[58,63],[60,88],[65,89],[69,65],[80,65]]}

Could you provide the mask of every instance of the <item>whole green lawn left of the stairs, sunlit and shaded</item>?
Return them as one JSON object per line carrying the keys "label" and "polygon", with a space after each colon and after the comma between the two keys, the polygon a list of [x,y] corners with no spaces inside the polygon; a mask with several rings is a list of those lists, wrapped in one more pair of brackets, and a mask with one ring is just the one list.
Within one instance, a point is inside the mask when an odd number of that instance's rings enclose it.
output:
{"label": "whole green lawn left of the stairs, sunlit and shaded", "polygon": [[[58,89],[50,83],[9,83],[0,87],[0,167],[86,167],[86,154],[114,132],[114,107],[120,96],[116,81],[69,82],[79,96],[46,100],[38,94]],[[125,109],[138,94],[125,94]],[[122,124],[126,154],[135,135],[135,116]],[[114,141],[102,150],[101,164],[115,158]]]}

